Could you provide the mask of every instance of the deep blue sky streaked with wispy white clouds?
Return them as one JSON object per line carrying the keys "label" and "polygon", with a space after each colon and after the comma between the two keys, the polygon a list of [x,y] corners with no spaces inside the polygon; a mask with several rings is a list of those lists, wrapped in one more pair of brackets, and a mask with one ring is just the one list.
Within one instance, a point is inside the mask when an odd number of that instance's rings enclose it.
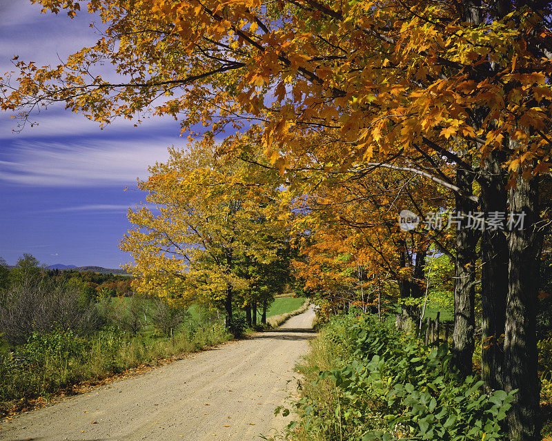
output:
{"label": "deep blue sky streaked with wispy white clouds", "polygon": [[[1,74],[14,55],[55,64],[97,40],[86,15],[70,21],[40,14],[26,0],[0,0],[0,15]],[[116,121],[100,130],[62,108],[34,120],[39,126],[13,133],[14,122],[0,113],[0,257],[14,264],[31,253],[48,265],[108,268],[128,262],[118,244],[130,227],[128,206],[145,199],[136,179],[166,159],[167,146],[184,145],[178,124],[157,118],[135,128]]]}

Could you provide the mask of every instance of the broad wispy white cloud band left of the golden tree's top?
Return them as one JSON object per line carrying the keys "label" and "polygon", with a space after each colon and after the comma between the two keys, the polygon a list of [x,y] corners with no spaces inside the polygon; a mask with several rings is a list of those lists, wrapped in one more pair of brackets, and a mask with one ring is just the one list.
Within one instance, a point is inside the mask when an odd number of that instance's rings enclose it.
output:
{"label": "broad wispy white cloud band left of the golden tree's top", "polygon": [[0,181],[29,186],[128,185],[148,175],[148,166],[168,158],[173,137],[90,140],[68,144],[16,141],[0,163]]}

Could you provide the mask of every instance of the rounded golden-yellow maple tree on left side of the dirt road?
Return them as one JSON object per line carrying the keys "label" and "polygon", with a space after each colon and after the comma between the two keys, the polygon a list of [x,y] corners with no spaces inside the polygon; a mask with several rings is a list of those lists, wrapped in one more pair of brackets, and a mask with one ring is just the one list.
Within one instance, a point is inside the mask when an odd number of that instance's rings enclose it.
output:
{"label": "rounded golden-yellow maple tree on left side of the dirt road", "polygon": [[248,266],[275,261],[285,230],[266,217],[267,193],[244,186],[239,164],[215,158],[213,144],[169,151],[139,181],[148,196],[128,213],[136,226],[121,242],[135,260],[128,269],[139,276],[139,292],[222,306],[232,328],[237,296],[266,282],[252,280]]}

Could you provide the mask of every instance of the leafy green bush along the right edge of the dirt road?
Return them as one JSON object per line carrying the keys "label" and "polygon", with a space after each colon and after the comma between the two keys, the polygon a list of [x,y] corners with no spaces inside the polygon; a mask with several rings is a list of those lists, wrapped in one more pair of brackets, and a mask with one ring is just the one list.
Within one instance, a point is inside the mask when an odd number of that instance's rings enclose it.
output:
{"label": "leafy green bush along the right edge of the dirt road", "polygon": [[[428,347],[377,317],[339,317],[320,337],[294,440],[500,440],[512,394],[460,381],[446,346]],[[324,355],[330,351],[331,357]],[[329,359],[329,360],[328,360]],[[323,369],[315,365],[326,360]],[[328,364],[331,367],[328,368]]]}

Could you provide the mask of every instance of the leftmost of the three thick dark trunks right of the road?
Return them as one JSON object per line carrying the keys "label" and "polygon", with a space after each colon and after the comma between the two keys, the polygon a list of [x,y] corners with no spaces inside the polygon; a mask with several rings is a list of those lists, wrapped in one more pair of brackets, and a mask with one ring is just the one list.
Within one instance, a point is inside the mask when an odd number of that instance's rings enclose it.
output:
{"label": "leftmost of the three thick dark trunks right of the road", "polygon": [[464,220],[475,210],[475,203],[465,197],[473,194],[474,175],[461,166],[456,168],[456,185],[464,195],[456,195],[455,206],[460,229],[456,231],[456,260],[454,265],[454,330],[451,352],[460,375],[466,377],[473,370],[475,349],[475,276],[477,239],[479,232],[467,228]]}

